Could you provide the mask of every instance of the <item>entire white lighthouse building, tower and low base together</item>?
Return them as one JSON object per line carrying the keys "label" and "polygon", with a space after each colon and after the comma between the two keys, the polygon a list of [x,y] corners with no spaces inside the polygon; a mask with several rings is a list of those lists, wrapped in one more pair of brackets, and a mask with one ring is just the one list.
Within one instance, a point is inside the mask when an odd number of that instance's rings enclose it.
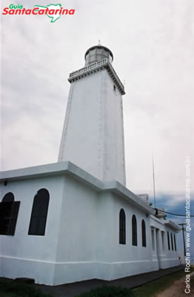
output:
{"label": "entire white lighthouse building, tower and low base together", "polygon": [[179,264],[180,230],[126,188],[123,85],[97,45],[71,89],[59,162],[1,173],[0,276],[111,280]]}

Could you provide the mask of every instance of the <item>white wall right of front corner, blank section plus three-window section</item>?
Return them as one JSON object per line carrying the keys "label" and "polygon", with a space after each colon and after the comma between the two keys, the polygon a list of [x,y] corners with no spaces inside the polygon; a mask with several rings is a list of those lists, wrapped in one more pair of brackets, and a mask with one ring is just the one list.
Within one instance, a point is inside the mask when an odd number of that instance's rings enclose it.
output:
{"label": "white wall right of front corner, blank section plus three-window section", "polygon": [[[150,249],[150,219],[121,197],[91,190],[65,178],[54,284],[85,279],[117,279],[158,269]],[[126,245],[119,244],[119,211],[126,213]],[[132,223],[138,223],[138,246],[132,245]],[[147,246],[142,247],[145,220]]]}

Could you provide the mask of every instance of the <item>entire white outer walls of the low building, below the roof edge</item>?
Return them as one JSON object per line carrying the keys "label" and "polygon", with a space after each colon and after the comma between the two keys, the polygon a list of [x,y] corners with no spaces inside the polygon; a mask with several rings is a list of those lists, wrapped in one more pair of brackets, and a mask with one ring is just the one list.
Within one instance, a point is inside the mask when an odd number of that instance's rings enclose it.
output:
{"label": "entire white outer walls of the low building, below the roof edge", "polygon": [[[16,233],[0,235],[0,275],[30,277],[37,283],[65,284],[85,279],[117,279],[178,265],[178,254],[152,251],[151,227],[171,228],[164,221],[111,191],[96,190],[74,175],[55,175],[1,183],[1,199],[13,192],[20,201]],[[50,194],[44,236],[28,235],[32,203],[37,190]],[[0,200],[1,201],[1,200]],[[126,245],[119,244],[119,212],[126,214]],[[138,246],[132,245],[132,216],[138,223]],[[141,221],[145,220],[147,246],[142,247]],[[156,247],[156,244],[155,244]]]}

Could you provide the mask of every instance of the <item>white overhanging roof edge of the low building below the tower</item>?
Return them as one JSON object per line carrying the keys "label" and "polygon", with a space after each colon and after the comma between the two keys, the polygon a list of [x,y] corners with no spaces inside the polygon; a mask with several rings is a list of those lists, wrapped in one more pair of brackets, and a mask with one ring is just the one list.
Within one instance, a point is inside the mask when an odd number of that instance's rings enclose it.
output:
{"label": "white overhanging roof edge of the low building below the tower", "polygon": [[70,175],[74,179],[92,187],[97,192],[112,192],[120,197],[123,197],[146,214],[155,213],[155,210],[145,203],[143,199],[140,199],[140,197],[121,185],[120,182],[102,182],[69,161],[3,171],[0,173],[0,182],[30,180],[39,177],[50,177],[56,175]]}

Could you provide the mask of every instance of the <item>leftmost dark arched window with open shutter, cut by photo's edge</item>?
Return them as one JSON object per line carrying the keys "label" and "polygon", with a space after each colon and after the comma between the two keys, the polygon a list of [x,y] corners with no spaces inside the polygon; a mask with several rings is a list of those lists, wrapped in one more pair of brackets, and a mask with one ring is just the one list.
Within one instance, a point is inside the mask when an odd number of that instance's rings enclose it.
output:
{"label": "leftmost dark arched window with open shutter, cut by photo's edge", "polygon": [[13,193],[5,194],[0,204],[0,234],[14,235],[20,202],[14,202]]}

